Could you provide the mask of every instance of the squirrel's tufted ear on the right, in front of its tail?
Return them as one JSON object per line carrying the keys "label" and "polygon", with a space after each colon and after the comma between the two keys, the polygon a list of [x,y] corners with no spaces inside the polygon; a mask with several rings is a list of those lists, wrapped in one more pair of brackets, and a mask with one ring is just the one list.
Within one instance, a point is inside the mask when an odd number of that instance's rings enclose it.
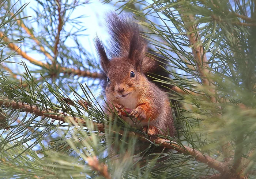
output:
{"label": "squirrel's tufted ear on the right, in front of its tail", "polygon": [[142,67],[144,53],[147,49],[147,46],[143,41],[138,41],[139,38],[140,37],[137,37],[136,35],[132,36],[128,55],[131,63],[135,65],[136,70],[140,70],[140,68]]}

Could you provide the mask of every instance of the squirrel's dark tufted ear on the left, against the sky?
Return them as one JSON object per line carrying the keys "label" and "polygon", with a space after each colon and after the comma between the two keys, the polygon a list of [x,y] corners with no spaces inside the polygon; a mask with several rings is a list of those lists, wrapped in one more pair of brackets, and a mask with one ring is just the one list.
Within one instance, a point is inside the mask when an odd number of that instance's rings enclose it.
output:
{"label": "squirrel's dark tufted ear on the left, against the sky", "polygon": [[107,72],[109,68],[109,59],[103,47],[102,41],[99,39],[98,36],[95,37],[95,43],[99,57],[101,58],[101,67],[104,72]]}

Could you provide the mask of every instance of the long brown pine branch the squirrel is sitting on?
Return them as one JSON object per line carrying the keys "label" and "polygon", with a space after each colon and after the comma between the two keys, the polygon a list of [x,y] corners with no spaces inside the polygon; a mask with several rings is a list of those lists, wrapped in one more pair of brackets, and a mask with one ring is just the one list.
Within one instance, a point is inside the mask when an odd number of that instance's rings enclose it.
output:
{"label": "long brown pine branch the squirrel is sitting on", "polygon": [[[10,99],[1,99],[0,98],[0,105],[4,105],[6,107],[11,107],[16,110],[22,110],[24,112],[29,112],[31,114],[35,114],[38,116],[43,116],[47,118],[51,118],[54,120],[59,120],[62,122],[68,122],[71,124],[86,124],[86,122],[77,117],[72,117],[72,116],[67,116],[64,114],[56,113],[51,110],[40,110],[34,105],[29,105],[29,104],[23,104],[22,102],[15,102],[14,100]],[[53,115],[54,114],[54,115]],[[103,124],[93,122],[94,126],[98,128],[99,131],[104,131],[105,127]],[[114,132],[114,131],[113,131]],[[119,134],[122,134],[122,131],[118,132]],[[177,151],[182,152],[183,154],[189,154],[191,156],[195,156],[195,159],[198,162],[202,162],[207,164],[208,166],[214,168],[215,170],[218,170],[220,172],[223,172],[223,162],[219,162],[216,159],[211,158],[210,156],[202,154],[200,151],[197,151],[193,148],[187,147],[187,146],[181,146],[180,144],[176,142],[170,142],[169,140],[162,139],[159,137],[153,138],[153,139],[146,139],[145,136],[135,134],[134,132],[129,133],[130,136],[135,137],[138,136],[139,140],[146,141],[146,142],[153,142],[159,146],[170,148],[170,149],[175,149]]]}

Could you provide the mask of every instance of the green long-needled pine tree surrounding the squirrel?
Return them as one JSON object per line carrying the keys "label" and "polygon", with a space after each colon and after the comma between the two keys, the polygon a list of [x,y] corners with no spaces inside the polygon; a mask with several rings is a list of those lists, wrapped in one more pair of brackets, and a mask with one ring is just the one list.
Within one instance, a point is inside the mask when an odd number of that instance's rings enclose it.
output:
{"label": "green long-needled pine tree surrounding the squirrel", "polygon": [[[104,114],[98,57],[71,19],[87,3],[37,0],[29,17],[27,4],[0,1],[1,178],[256,178],[255,1],[116,3],[169,64],[175,138]],[[143,155],[153,157],[142,165]]]}

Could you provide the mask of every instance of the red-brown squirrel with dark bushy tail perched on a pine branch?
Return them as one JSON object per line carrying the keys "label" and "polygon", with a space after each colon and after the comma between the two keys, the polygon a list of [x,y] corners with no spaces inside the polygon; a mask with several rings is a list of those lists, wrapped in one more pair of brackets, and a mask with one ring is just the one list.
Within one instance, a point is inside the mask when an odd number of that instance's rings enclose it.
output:
{"label": "red-brown squirrel with dark bushy tail perched on a pine branch", "polygon": [[[166,60],[153,53],[148,41],[140,33],[134,18],[112,13],[107,18],[111,35],[108,57],[97,36],[95,46],[102,67],[102,87],[106,103],[118,111],[130,108],[130,117],[121,116],[130,126],[140,126],[150,136],[174,136],[174,117],[167,88],[154,78],[169,77],[163,68]],[[113,104],[113,106],[112,106]],[[111,112],[106,111],[108,115]]]}

